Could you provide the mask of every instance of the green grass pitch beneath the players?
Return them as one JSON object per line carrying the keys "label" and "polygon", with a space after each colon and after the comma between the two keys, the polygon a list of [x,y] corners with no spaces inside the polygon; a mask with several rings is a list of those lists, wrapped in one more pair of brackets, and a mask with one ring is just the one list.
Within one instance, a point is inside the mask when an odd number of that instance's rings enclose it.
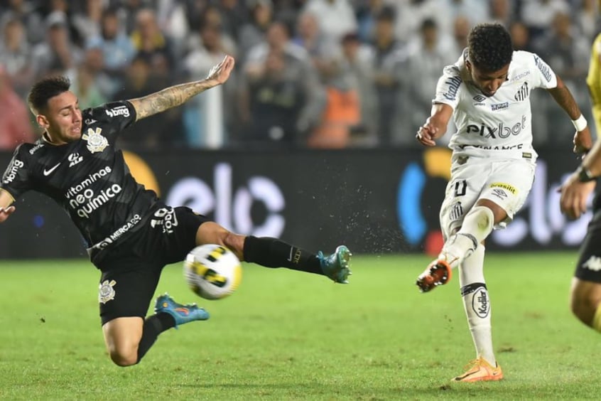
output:
{"label": "green grass pitch beneath the players", "polygon": [[244,266],[204,301],[166,267],[158,293],[212,314],[163,333],[139,365],[110,362],[87,261],[0,262],[0,400],[598,399],[601,334],[570,315],[576,252],[487,255],[505,380],[459,384],[474,350],[458,280],[420,294],[428,257],[356,256],[351,284]]}

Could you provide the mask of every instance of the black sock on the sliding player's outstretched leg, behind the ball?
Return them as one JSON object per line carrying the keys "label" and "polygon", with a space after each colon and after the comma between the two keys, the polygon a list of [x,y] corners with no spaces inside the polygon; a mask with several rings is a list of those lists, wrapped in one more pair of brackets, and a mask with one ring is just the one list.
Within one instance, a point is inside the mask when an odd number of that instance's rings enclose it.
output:
{"label": "black sock on the sliding player's outstretched leg, behind the ball", "polygon": [[265,267],[288,267],[302,272],[323,274],[315,254],[277,238],[249,235],[244,240],[244,260]]}

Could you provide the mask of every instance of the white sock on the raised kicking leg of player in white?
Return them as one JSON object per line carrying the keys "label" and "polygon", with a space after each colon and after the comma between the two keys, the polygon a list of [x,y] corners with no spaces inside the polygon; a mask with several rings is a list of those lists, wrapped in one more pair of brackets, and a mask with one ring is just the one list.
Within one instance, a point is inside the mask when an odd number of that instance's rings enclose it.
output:
{"label": "white sock on the raised kicking leg of player in white", "polygon": [[457,234],[451,235],[445,242],[438,259],[446,260],[452,269],[459,266],[488,237],[493,226],[492,210],[485,206],[475,206],[465,215]]}

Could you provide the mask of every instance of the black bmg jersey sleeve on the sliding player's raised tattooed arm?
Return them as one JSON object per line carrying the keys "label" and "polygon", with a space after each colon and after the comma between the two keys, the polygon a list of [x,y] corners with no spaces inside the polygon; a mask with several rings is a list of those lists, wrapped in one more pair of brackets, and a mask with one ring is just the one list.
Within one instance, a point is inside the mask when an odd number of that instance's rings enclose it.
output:
{"label": "black bmg jersey sleeve on the sliding player's raised tattooed arm", "polygon": [[107,135],[109,141],[114,141],[119,132],[136,121],[136,109],[127,100],[105,103],[99,107],[86,109],[82,114],[86,124],[97,122],[102,127],[108,127],[108,130],[103,130],[103,134]]}

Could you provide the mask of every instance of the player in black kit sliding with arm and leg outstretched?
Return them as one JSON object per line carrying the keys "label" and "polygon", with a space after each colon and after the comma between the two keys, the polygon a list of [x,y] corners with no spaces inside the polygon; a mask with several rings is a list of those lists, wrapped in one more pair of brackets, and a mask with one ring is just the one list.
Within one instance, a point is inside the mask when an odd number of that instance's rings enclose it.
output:
{"label": "player in black kit sliding with arm and leg outstretched", "polygon": [[223,84],[234,68],[226,56],[207,78],[168,87],[145,97],[80,110],[64,77],[33,85],[28,102],[45,132],[35,144],[19,146],[0,183],[0,223],[14,213],[13,201],[28,190],[61,205],[88,244],[102,272],[99,306],[104,341],[114,363],[139,363],[168,328],[209,314],[170,296],[148,305],[166,264],[181,261],[196,245],[218,244],[240,260],[288,267],[347,283],[350,252],[344,245],[330,256],[313,255],[269,237],[237,235],[185,207],[172,208],[137,183],[115,149],[121,131],[139,119],[182,105]]}

